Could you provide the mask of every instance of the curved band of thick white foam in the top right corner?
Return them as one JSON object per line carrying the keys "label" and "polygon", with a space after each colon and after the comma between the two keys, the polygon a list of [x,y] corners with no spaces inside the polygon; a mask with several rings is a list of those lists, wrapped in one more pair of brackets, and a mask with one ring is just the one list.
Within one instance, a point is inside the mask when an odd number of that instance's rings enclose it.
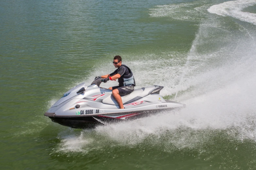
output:
{"label": "curved band of thick white foam in the top right corner", "polygon": [[256,25],[256,14],[249,12],[242,12],[242,9],[253,6],[256,4],[255,0],[237,0],[237,1],[228,1],[222,4],[213,5],[208,9],[210,13],[221,15],[221,16],[230,16],[241,21],[246,21]]}

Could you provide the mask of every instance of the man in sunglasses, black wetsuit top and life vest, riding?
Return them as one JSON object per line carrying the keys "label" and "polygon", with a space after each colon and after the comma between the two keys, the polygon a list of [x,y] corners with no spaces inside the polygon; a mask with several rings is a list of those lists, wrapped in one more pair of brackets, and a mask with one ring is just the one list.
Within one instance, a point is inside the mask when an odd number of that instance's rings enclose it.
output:
{"label": "man in sunglasses, black wetsuit top and life vest, riding", "polygon": [[95,79],[104,78],[101,80],[104,83],[109,80],[118,79],[119,86],[110,87],[109,89],[112,90],[112,94],[115,97],[117,103],[119,104],[120,108],[123,109],[124,105],[120,95],[126,95],[133,92],[134,86],[136,84],[131,69],[122,64],[121,56],[116,55],[114,57],[113,64],[115,68],[117,68],[113,73],[104,76],[97,76]]}

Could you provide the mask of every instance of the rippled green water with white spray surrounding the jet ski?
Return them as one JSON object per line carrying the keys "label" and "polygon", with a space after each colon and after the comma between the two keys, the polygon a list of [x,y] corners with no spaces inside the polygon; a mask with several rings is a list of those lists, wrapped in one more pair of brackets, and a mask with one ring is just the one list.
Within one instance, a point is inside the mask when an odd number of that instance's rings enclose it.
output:
{"label": "rippled green water with white spray surrounding the jet ski", "polygon": [[[2,0],[1,169],[256,169],[255,4],[246,22],[207,11],[223,2]],[[115,55],[187,107],[89,130],[43,116]]]}

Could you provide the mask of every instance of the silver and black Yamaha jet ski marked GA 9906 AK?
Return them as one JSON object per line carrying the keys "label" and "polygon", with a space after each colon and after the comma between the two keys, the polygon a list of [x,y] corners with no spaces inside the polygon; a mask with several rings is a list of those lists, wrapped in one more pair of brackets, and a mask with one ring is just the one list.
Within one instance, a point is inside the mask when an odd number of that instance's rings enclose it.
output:
{"label": "silver and black Yamaha jet ski marked GA 9906 AK", "polygon": [[96,78],[89,86],[81,83],[64,93],[44,116],[63,126],[84,129],[186,106],[163,99],[159,94],[163,87],[154,85],[121,96],[125,108],[120,109],[112,90],[99,87],[101,79]]}

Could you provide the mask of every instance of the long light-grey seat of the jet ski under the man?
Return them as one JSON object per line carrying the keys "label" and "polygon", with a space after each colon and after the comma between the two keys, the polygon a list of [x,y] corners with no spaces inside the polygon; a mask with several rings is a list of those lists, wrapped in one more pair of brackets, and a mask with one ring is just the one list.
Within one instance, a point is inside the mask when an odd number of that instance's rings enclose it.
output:
{"label": "long light-grey seat of the jet ski under the man", "polygon": [[[149,87],[143,87],[140,89],[135,89],[133,92],[131,92],[130,94],[121,96],[123,104],[129,104],[132,103],[136,100],[139,100],[149,94],[152,93],[158,93],[160,92],[160,90],[162,90],[162,86],[149,86]],[[109,104],[109,105],[118,105],[117,101],[115,100],[113,94],[111,94],[110,96],[108,96],[107,98],[103,99],[102,103],[105,104]]]}

